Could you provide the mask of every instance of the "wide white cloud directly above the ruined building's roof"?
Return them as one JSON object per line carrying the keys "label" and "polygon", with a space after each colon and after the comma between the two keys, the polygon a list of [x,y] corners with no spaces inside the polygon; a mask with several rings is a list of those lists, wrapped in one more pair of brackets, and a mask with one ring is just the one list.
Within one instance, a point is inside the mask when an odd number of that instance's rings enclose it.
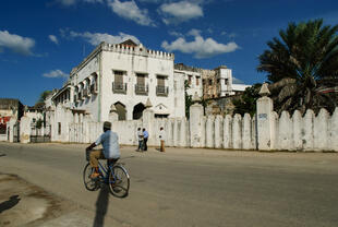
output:
{"label": "wide white cloud directly above the ruined building's roof", "polygon": [[217,55],[232,52],[239,48],[234,43],[218,44],[213,38],[204,39],[196,35],[193,41],[186,41],[185,38],[178,38],[171,44],[167,40],[162,41],[161,47],[167,51],[181,51],[184,53],[193,53],[195,58],[210,58]]}

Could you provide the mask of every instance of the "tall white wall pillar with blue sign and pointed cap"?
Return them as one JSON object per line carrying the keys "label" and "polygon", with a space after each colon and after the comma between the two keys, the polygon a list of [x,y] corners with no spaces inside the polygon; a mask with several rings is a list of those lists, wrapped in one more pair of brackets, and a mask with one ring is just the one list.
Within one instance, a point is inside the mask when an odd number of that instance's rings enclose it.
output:
{"label": "tall white wall pillar with blue sign and pointed cap", "polygon": [[259,95],[263,97],[257,99],[257,136],[258,150],[270,151],[275,148],[275,124],[274,124],[274,101],[267,97],[269,95],[267,84],[262,85]]}

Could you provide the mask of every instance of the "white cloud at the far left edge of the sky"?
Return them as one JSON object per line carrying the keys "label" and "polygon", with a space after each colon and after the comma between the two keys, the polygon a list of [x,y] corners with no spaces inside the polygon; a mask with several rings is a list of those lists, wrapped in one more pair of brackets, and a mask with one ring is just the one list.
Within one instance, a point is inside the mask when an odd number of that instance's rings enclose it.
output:
{"label": "white cloud at the far left edge of the sky", "polygon": [[20,55],[31,56],[34,46],[35,40],[33,38],[10,34],[8,31],[0,31],[0,49],[2,51],[8,48]]}

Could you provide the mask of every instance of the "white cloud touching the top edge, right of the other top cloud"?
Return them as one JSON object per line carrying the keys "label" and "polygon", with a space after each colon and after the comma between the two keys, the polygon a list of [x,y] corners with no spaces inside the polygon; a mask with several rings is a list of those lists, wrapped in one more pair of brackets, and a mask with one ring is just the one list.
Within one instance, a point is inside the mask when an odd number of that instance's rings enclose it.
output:
{"label": "white cloud touching the top edge, right of the other top cloud", "polygon": [[200,3],[189,1],[164,3],[159,7],[159,13],[165,16],[162,21],[166,24],[185,22],[203,16]]}

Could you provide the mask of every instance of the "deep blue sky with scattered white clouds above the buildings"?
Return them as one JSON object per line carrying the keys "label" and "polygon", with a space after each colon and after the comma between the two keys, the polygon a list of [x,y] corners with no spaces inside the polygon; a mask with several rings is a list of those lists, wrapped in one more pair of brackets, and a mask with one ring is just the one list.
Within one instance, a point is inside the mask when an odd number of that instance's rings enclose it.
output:
{"label": "deep blue sky with scattered white clouds above the buildings", "polygon": [[0,97],[33,106],[97,44],[132,38],[176,63],[232,69],[262,83],[257,57],[289,22],[338,24],[335,0],[2,0]]}

